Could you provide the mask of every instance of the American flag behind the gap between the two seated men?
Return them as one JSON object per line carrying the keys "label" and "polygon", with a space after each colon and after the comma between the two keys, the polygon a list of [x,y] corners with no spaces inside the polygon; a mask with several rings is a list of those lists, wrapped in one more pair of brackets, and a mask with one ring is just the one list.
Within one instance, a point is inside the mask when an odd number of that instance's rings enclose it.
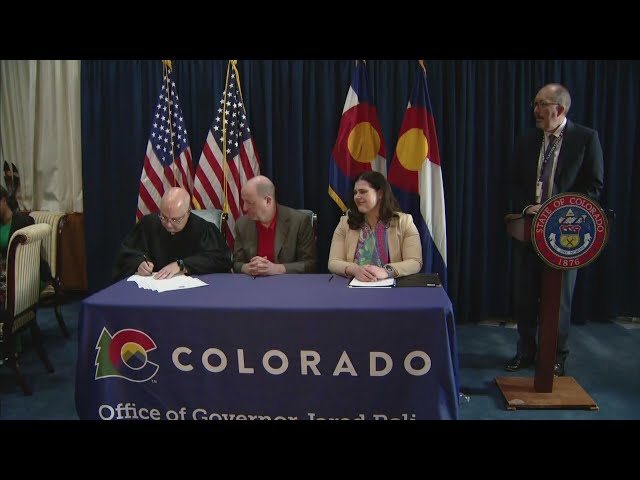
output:
{"label": "American flag behind the gap between the two seated men", "polygon": [[223,233],[232,251],[235,223],[242,215],[240,191],[247,180],[260,175],[260,159],[238,76],[235,60],[229,61],[226,88],[202,148],[193,188],[195,208],[217,208],[229,213],[227,231]]}

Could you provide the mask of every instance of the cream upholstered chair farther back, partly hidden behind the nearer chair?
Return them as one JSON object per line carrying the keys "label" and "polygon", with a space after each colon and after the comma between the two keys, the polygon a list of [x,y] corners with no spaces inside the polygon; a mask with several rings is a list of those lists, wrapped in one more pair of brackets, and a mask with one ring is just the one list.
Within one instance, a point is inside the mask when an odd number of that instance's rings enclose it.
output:
{"label": "cream upholstered chair farther back, partly hidden behind the nearer chair", "polygon": [[67,214],[46,210],[34,210],[29,215],[33,217],[36,223],[46,223],[51,227],[51,235],[42,242],[42,258],[44,258],[49,263],[49,267],[51,267],[54,292],[51,296],[43,296],[40,303],[43,306],[53,307],[62,334],[66,338],[69,338],[69,330],[62,317],[61,305],[64,300],[64,290],[62,288],[62,282],[60,281],[60,273],[62,272],[62,229],[67,220]]}

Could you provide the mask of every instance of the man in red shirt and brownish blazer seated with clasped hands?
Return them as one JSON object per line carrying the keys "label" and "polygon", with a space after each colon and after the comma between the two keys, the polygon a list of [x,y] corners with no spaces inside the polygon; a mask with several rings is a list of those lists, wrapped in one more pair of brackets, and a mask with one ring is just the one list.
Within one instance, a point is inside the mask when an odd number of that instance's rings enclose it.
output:
{"label": "man in red shirt and brownish blazer seated with clasped hands", "polygon": [[244,215],[235,226],[233,271],[247,275],[313,273],[316,240],[309,216],[276,202],[276,189],[258,175],[242,187]]}

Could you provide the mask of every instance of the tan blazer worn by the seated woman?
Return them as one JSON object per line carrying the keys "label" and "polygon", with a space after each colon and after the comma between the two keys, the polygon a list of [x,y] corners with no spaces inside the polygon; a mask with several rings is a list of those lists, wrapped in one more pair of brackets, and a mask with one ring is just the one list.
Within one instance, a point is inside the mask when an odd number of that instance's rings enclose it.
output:
{"label": "tan blazer worn by the seated woman", "polygon": [[[340,218],[340,223],[333,232],[331,251],[329,252],[329,271],[337,275],[345,275],[345,269],[354,265],[356,247],[360,238],[360,230],[351,230],[347,216]],[[398,277],[418,273],[422,268],[422,245],[420,234],[413,223],[413,217],[407,213],[397,212],[391,219],[387,230],[389,244],[389,265],[397,272]]]}

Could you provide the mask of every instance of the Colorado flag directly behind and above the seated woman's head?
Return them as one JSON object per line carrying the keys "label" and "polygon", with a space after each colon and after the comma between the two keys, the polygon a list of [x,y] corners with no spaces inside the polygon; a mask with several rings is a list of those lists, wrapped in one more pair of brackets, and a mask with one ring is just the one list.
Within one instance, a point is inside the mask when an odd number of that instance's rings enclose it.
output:
{"label": "Colorado flag directly behind and above the seated woman's head", "polygon": [[353,197],[353,180],[358,175],[366,170],[387,175],[386,157],[378,112],[369,95],[367,65],[356,60],[338,138],[329,161],[329,196],[343,212],[347,211]]}

